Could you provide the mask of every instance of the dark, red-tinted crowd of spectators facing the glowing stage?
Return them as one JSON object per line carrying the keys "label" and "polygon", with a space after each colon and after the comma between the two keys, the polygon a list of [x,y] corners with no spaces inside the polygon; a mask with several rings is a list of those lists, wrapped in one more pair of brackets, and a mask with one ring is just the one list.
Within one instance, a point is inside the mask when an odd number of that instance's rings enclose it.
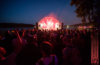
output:
{"label": "dark, red-tinted crowd of spectators facing the glowing stage", "polygon": [[0,35],[0,65],[89,65],[87,30],[12,30]]}

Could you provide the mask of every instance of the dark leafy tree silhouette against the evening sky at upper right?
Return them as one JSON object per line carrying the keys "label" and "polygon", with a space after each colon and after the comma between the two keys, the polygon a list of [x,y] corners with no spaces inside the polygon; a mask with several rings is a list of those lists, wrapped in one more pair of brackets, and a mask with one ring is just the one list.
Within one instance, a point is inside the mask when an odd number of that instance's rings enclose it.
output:
{"label": "dark leafy tree silhouette against the evening sky at upper right", "polygon": [[100,17],[100,0],[71,0],[71,6],[75,5],[77,17],[82,19],[82,23],[94,22]]}

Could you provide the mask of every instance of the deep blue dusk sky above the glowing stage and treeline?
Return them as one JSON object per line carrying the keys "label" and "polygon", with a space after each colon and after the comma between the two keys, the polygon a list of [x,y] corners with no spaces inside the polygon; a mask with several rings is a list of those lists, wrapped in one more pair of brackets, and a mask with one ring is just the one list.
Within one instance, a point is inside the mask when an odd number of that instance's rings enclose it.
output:
{"label": "deep blue dusk sky above the glowing stage and treeline", "polygon": [[0,0],[0,22],[35,24],[53,13],[64,24],[81,23],[71,0]]}

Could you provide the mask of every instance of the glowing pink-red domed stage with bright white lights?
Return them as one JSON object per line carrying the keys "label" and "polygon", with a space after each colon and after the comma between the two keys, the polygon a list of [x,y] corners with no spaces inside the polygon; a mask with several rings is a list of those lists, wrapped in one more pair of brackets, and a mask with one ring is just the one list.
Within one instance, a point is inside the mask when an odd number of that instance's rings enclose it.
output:
{"label": "glowing pink-red domed stage with bright white lights", "polygon": [[38,22],[40,30],[57,30],[61,29],[61,23],[53,16],[44,17]]}

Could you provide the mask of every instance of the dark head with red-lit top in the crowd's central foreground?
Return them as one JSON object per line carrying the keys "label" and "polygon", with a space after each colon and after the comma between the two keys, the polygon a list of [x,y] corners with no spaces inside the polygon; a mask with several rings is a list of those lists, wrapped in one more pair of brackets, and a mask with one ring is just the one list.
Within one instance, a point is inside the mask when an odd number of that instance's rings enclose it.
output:
{"label": "dark head with red-lit top in the crowd's central foreground", "polygon": [[43,41],[41,43],[41,52],[43,56],[50,56],[52,52],[52,44],[48,41]]}

